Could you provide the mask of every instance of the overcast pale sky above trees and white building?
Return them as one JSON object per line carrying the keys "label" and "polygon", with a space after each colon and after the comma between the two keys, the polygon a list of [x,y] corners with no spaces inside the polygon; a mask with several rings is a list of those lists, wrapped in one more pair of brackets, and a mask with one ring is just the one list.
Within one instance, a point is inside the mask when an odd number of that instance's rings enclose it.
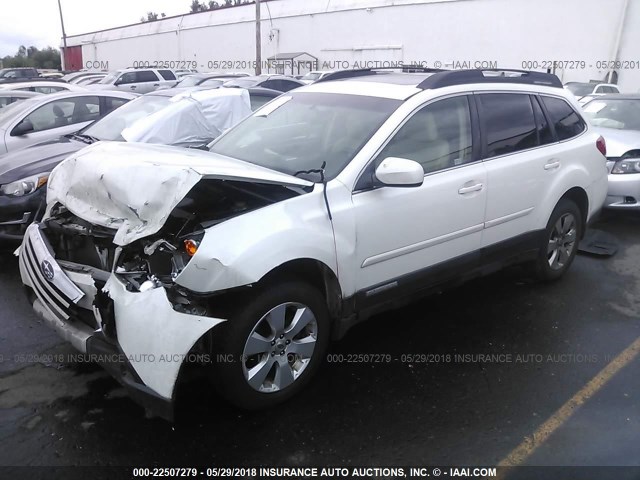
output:
{"label": "overcast pale sky above trees and white building", "polygon": [[[67,35],[137,23],[148,11],[167,16],[187,13],[191,0],[60,0]],[[62,38],[57,0],[0,0],[0,57],[20,45],[59,47]]]}

